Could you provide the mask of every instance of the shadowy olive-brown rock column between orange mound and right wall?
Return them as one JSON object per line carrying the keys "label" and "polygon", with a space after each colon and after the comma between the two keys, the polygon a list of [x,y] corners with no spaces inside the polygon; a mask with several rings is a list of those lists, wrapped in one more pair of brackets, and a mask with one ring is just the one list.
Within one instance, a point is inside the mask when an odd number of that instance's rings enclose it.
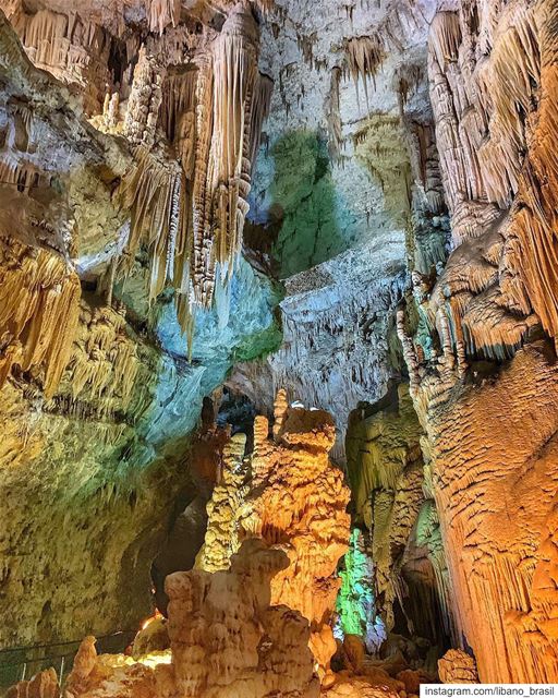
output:
{"label": "shadowy olive-brown rock column between orange mound and right wall", "polygon": [[357,521],[369,535],[376,604],[387,630],[442,648],[451,634],[449,579],[421,438],[409,387],[401,384],[372,414],[352,416],[348,470]]}

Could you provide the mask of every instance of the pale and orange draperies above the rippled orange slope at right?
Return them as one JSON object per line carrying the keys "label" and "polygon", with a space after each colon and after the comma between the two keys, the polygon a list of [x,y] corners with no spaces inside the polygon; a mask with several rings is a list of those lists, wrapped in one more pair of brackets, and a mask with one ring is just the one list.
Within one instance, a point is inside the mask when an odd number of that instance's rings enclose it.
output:
{"label": "pale and orange draperies above the rippled orange slope at right", "polygon": [[432,23],[430,97],[456,250],[434,289],[415,279],[435,346],[413,346],[400,324],[413,386],[432,357],[450,384],[465,357],[510,358],[538,322],[558,335],[553,12],[545,1],[472,0]]}

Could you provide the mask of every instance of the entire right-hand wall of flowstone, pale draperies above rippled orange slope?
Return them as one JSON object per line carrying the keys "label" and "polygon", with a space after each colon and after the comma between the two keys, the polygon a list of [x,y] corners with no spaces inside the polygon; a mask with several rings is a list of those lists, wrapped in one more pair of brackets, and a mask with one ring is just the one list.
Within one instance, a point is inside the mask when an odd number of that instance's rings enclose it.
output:
{"label": "entire right-hand wall of flowstone, pale draperies above rippled orange slope", "polygon": [[399,333],[459,635],[482,681],[556,682],[558,10],[458,5],[429,43],[454,250],[434,286],[414,276],[422,324]]}

